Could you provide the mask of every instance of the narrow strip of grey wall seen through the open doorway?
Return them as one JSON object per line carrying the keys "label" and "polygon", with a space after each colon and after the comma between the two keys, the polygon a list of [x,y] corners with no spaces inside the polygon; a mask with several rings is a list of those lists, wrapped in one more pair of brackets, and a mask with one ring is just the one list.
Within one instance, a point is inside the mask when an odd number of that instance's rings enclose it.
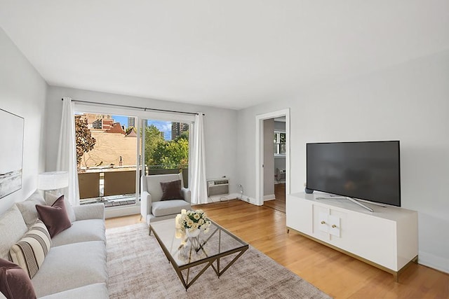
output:
{"label": "narrow strip of grey wall seen through the open doorway", "polygon": [[274,199],[274,118],[264,120],[264,199]]}

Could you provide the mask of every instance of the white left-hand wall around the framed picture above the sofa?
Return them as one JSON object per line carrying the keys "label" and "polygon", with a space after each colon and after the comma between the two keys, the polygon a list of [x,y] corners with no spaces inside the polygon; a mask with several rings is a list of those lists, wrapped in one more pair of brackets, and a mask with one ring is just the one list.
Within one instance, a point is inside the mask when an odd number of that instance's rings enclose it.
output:
{"label": "white left-hand wall around the framed picture above the sofa", "polygon": [[[22,189],[0,199],[1,214],[36,190],[37,175],[44,170],[45,144],[41,140],[45,135],[47,84],[1,28],[0,53],[0,108],[25,118]],[[1,134],[15,134],[14,128],[0,123]]]}

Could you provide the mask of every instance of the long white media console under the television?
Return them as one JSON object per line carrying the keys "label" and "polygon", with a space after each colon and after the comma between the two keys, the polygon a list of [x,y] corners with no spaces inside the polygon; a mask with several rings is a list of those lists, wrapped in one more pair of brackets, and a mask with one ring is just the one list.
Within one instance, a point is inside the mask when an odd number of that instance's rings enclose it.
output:
{"label": "long white media console under the television", "polygon": [[287,231],[347,253],[394,275],[418,258],[417,212],[347,200],[316,200],[323,193],[287,195]]}

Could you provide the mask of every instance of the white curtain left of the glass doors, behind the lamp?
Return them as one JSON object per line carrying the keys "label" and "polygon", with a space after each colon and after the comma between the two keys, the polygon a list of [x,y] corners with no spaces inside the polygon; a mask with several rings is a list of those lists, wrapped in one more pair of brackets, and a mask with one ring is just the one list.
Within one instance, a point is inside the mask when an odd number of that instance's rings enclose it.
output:
{"label": "white curtain left of the glass doors, behind the lamp", "polygon": [[69,97],[62,99],[61,131],[59,135],[58,172],[69,172],[69,186],[64,195],[72,206],[79,205],[78,173],[76,170],[76,141],[74,123],[74,103]]}

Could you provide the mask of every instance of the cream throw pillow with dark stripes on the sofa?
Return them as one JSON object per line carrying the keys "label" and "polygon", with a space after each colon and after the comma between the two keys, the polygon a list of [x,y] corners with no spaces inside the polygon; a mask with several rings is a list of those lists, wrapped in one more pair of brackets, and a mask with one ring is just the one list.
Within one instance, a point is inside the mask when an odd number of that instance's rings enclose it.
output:
{"label": "cream throw pillow with dark stripes on the sofa", "polygon": [[13,263],[19,265],[29,278],[41,267],[51,247],[51,237],[41,220],[37,220],[28,232],[9,250]]}

